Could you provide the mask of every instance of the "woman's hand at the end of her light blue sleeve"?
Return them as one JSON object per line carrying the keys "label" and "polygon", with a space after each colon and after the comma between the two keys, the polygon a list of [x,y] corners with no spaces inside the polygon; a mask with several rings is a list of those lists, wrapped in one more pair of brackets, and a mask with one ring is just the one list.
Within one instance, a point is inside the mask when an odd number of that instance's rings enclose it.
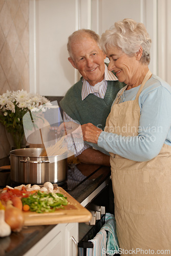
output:
{"label": "woman's hand at the end of her light blue sleeve", "polygon": [[81,125],[83,140],[93,142],[97,144],[101,129],[97,128],[92,123],[86,123]]}

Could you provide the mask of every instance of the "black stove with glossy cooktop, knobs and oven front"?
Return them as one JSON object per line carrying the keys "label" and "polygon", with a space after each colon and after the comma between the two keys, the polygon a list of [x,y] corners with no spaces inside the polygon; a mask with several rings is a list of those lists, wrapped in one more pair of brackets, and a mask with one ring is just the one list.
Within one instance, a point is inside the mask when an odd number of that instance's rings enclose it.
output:
{"label": "black stove with glossy cooktop, knobs and oven front", "polygon": [[[0,188],[18,185],[10,179],[10,169],[0,167]],[[79,223],[79,255],[93,248],[93,239],[104,224],[105,212],[114,214],[114,198],[110,167],[78,164],[68,167],[67,181],[58,184],[92,213],[89,223]]]}

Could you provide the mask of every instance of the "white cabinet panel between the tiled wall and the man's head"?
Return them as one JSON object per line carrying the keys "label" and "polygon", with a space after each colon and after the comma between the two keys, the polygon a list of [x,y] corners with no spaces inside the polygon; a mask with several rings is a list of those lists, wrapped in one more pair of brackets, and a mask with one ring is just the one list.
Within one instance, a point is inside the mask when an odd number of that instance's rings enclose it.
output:
{"label": "white cabinet panel between the tiled wall and the man's head", "polygon": [[75,0],[30,1],[30,90],[64,95],[74,82],[67,40],[76,26]]}

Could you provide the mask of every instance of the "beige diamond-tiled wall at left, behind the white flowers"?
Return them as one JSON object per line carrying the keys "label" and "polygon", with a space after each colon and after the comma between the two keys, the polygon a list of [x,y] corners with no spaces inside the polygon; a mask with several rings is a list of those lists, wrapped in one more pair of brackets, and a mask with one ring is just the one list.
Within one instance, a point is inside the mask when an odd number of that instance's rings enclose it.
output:
{"label": "beige diamond-tiled wall at left, behind the white flowers", "polygon": [[[29,0],[0,1],[0,94],[29,91]],[[0,124],[0,159],[9,155]]]}

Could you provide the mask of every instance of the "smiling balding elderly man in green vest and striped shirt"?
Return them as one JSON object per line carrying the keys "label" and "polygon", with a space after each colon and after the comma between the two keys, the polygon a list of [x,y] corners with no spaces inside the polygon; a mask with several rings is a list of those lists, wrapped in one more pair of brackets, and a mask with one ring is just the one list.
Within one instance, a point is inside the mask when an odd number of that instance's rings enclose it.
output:
{"label": "smiling balding elderly man in green vest and striped shirt", "polygon": [[[125,86],[108,70],[104,63],[105,54],[100,48],[100,38],[92,30],[75,31],[68,39],[68,60],[81,74],[60,101],[64,121],[93,123],[104,129],[111,105],[117,92]],[[101,152],[96,144],[84,144],[77,158],[83,163],[110,166],[109,154]]]}

